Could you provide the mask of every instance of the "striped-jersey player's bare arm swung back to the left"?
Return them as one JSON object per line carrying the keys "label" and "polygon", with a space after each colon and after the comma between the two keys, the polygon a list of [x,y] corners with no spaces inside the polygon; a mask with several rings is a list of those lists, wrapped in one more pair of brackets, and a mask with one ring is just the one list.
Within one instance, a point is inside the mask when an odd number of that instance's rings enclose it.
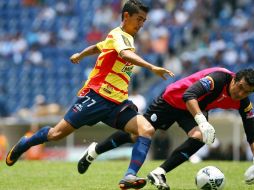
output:
{"label": "striped-jersey player's bare arm swung back to the left", "polygon": [[83,51],[80,53],[75,53],[70,57],[70,60],[74,64],[78,64],[84,57],[98,54],[100,53],[100,49],[97,47],[97,45],[91,45],[87,48],[85,48]]}

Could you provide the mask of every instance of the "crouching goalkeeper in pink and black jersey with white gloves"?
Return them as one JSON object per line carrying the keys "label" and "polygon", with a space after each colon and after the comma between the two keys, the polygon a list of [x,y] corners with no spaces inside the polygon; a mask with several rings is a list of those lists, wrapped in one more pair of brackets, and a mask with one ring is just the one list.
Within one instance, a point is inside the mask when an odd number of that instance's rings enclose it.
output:
{"label": "crouching goalkeeper in pink and black jersey with white gloves", "polygon": [[[174,122],[188,135],[171,156],[148,174],[149,181],[160,190],[169,190],[165,174],[189,159],[205,143],[210,145],[215,130],[208,122],[208,111],[215,108],[239,111],[247,140],[254,153],[254,112],[248,98],[254,91],[254,69],[244,69],[236,74],[224,68],[210,68],[194,73],[167,86],[165,91],[147,109],[144,116],[155,129],[167,130]],[[78,163],[84,173],[99,154],[133,142],[135,137],[116,132],[104,142],[92,143]],[[254,166],[245,173],[246,182],[254,182]]]}

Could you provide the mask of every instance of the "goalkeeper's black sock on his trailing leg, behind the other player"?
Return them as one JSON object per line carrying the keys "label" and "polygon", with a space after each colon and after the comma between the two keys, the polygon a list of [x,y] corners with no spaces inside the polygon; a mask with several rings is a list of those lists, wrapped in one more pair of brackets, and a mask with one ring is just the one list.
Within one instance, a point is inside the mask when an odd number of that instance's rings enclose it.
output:
{"label": "goalkeeper's black sock on his trailing leg, behind the other player", "polygon": [[125,143],[132,143],[130,134],[123,131],[117,131],[108,137],[105,141],[98,143],[95,147],[95,151],[97,154],[101,154],[117,148]]}

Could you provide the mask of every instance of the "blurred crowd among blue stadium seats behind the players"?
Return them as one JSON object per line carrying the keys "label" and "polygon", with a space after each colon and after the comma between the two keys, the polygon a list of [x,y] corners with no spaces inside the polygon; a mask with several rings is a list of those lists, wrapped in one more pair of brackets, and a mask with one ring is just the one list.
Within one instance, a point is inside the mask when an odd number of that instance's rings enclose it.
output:
{"label": "blurred crowd among blue stadium seats behind the players", "polygon": [[[251,0],[144,1],[151,11],[136,36],[138,54],[172,70],[175,79],[212,66],[237,71],[253,64]],[[32,107],[38,94],[67,108],[96,59],[72,66],[69,56],[102,40],[118,26],[123,2],[1,1],[0,86],[5,90],[0,91],[0,103],[6,107],[2,116]],[[152,77],[137,67],[133,91],[153,86]],[[153,98],[147,97],[152,94],[145,93],[145,98]]]}

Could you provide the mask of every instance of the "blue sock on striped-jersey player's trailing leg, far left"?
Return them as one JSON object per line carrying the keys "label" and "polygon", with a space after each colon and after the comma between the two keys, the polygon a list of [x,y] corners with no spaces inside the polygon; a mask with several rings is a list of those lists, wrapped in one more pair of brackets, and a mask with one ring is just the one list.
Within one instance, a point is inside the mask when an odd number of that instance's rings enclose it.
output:
{"label": "blue sock on striped-jersey player's trailing leg, far left", "polygon": [[32,135],[30,138],[27,138],[25,143],[27,147],[24,147],[24,148],[28,149],[31,146],[35,146],[35,145],[47,142],[49,129],[50,127],[48,126],[43,127],[40,130],[38,130],[34,135]]}

